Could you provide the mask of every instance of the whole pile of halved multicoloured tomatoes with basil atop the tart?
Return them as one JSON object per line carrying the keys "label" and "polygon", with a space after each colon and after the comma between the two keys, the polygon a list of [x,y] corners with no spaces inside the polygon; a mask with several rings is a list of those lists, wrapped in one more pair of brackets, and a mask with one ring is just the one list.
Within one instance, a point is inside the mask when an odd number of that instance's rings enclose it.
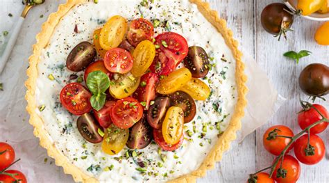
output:
{"label": "whole pile of halved multicoloured tomatoes with basil atop the tart", "polygon": [[[142,149],[154,141],[163,150],[183,143],[183,125],[196,114],[194,100],[206,100],[210,88],[208,55],[188,47],[182,35],[160,33],[147,19],[127,22],[111,17],[94,31],[94,42],[81,42],[67,57],[67,68],[85,70],[85,83],[68,83],[60,102],[79,116],[78,131],[103,152],[117,154],[125,145]],[[101,60],[94,61],[96,54]],[[176,70],[183,61],[185,67]]]}

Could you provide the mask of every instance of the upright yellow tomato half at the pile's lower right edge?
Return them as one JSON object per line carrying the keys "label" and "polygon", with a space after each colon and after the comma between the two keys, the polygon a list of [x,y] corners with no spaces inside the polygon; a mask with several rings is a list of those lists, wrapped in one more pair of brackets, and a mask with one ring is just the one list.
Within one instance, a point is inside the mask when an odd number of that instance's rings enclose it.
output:
{"label": "upright yellow tomato half at the pile's lower right edge", "polygon": [[166,143],[174,145],[183,135],[184,111],[178,106],[171,106],[162,122],[162,136]]}

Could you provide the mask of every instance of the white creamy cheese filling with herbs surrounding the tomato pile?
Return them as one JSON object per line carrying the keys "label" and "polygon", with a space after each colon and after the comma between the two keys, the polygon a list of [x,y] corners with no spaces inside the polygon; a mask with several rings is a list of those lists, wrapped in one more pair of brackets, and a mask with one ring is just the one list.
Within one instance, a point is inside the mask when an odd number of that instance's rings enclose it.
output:
{"label": "white creamy cheese filling with herbs surrounding the tomato pile", "polygon": [[[69,161],[96,177],[100,182],[165,182],[199,168],[208,152],[226,129],[237,103],[235,59],[221,34],[188,0],[155,0],[146,6],[141,1],[90,1],[72,8],[62,17],[38,64],[35,109],[44,122],[44,129],[56,148]],[[212,88],[206,101],[197,101],[196,117],[185,124],[185,141],[175,152],[159,152],[151,143],[144,150],[137,150],[137,157],[126,158],[127,148],[110,156],[102,152],[101,143],[87,143],[76,128],[77,116],[71,115],[59,101],[60,90],[71,74],[83,78],[83,72],[71,72],[65,67],[67,55],[82,41],[92,42],[92,33],[108,18],[121,15],[128,20],[141,15],[149,20],[160,19],[155,35],[174,31],[186,38],[188,45],[203,47],[210,56],[212,69],[202,79]],[[166,24],[167,23],[167,24]],[[163,25],[163,26],[162,26]],[[78,33],[74,32],[75,26]],[[49,79],[49,75],[54,79]],[[74,80],[76,81],[76,80]],[[39,107],[45,106],[40,111]],[[43,107],[42,107],[43,108]],[[135,152],[133,153],[135,154]],[[166,161],[160,158],[166,157]],[[136,170],[138,161],[146,161],[146,172]]]}

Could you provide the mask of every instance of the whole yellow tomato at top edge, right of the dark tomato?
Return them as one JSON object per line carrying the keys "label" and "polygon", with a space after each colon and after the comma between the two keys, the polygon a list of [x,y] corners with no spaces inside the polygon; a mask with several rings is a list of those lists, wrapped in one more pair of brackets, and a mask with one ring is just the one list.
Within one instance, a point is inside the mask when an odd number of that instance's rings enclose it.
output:
{"label": "whole yellow tomato at top edge, right of the dark tomato", "polygon": [[302,15],[311,15],[317,12],[327,0],[298,0],[297,9]]}

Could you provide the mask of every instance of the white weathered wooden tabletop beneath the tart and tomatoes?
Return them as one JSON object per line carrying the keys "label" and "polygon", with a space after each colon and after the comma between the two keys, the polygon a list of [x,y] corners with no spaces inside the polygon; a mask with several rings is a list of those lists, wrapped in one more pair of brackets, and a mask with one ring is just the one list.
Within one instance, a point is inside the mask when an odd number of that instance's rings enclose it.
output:
{"label": "white weathered wooden tabletop beneath the tart and tomatoes", "polygon": [[[51,1],[51,0],[47,0]],[[59,2],[52,0],[51,6],[58,6]],[[273,156],[262,147],[262,134],[271,125],[284,124],[299,131],[296,122],[296,112],[299,109],[298,98],[306,99],[298,88],[298,74],[303,67],[309,63],[319,62],[329,65],[329,47],[321,47],[314,40],[314,32],[319,26],[319,22],[311,22],[306,19],[297,18],[294,22],[294,32],[289,33],[288,40],[278,42],[272,35],[267,34],[260,25],[260,13],[262,8],[268,3],[275,2],[261,0],[208,0],[211,7],[219,12],[219,15],[228,21],[228,26],[233,30],[235,38],[241,43],[240,49],[246,54],[255,58],[258,64],[268,73],[268,77],[278,92],[287,97],[287,102],[279,109],[278,113],[267,125],[250,134],[239,145],[233,145],[230,151],[224,154],[223,160],[217,164],[214,170],[208,171],[207,175],[198,182],[246,182],[248,173],[269,166],[273,161]],[[15,19],[22,10],[21,0],[0,0],[0,33],[10,30]],[[15,6],[12,6],[15,5]],[[42,8],[42,7],[37,7]],[[39,12],[40,12],[39,9]],[[49,12],[42,10],[44,18],[40,19],[40,13],[28,15],[28,21],[24,27],[33,27],[31,34],[34,36],[40,30],[40,24],[45,21]],[[13,17],[9,18],[8,13]],[[36,31],[35,31],[36,29]],[[329,33],[328,33],[329,36]],[[31,53],[33,42],[26,42],[21,52]],[[18,48],[15,48],[17,50]],[[296,65],[293,61],[287,61],[282,54],[285,51],[307,49],[313,52],[312,56],[303,58],[301,63]],[[27,58],[27,56],[26,56]],[[9,66],[10,67],[10,66]],[[10,77],[10,73],[2,75],[0,79]],[[24,91],[21,91],[24,93]],[[326,103],[328,106],[329,103]],[[321,135],[323,141],[329,147],[329,133]],[[316,166],[302,165],[301,178],[298,182],[329,182],[329,155]],[[63,175],[65,176],[65,175]],[[51,181],[50,181],[51,182]]]}

